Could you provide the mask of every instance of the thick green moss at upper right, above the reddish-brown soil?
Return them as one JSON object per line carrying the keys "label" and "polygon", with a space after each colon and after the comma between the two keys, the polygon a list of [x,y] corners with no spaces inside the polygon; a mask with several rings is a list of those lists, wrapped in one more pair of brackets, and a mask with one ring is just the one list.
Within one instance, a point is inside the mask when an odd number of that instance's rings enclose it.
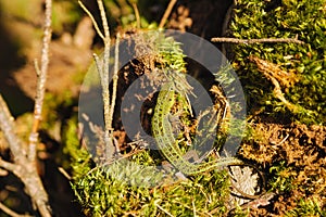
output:
{"label": "thick green moss at upper right, above the reddish-brown soil", "polygon": [[[263,108],[264,115],[322,124],[325,120],[326,86],[326,13],[325,1],[284,0],[277,8],[267,8],[259,0],[238,1],[230,25],[237,38],[298,38],[305,44],[255,43],[234,47],[234,66],[248,95],[250,108]],[[249,55],[276,63],[281,69],[293,72],[299,79],[291,87],[284,87],[288,101],[299,107],[289,111],[273,95],[274,87],[248,61]]]}

